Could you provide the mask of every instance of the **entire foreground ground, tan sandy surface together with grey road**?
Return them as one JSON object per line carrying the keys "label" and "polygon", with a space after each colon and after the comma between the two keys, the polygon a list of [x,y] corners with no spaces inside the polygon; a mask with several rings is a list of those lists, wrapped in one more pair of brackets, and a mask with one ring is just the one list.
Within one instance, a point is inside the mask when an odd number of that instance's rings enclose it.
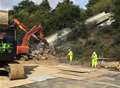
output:
{"label": "entire foreground ground, tan sandy surface together with grey road", "polygon": [[25,67],[26,79],[10,81],[0,76],[0,88],[120,88],[120,72],[116,71],[68,64]]}

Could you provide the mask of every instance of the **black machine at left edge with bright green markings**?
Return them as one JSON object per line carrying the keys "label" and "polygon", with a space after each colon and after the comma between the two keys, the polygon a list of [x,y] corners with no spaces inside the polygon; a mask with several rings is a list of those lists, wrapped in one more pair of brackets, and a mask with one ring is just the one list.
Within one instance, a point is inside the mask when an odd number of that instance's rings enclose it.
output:
{"label": "black machine at left edge with bright green markings", "polygon": [[15,28],[0,28],[0,61],[13,61],[16,55]]}

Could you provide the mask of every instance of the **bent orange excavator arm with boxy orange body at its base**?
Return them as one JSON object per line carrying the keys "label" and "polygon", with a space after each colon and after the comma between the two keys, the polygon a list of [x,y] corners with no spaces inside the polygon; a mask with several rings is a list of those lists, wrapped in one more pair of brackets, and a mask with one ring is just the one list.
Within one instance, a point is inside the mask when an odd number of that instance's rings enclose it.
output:
{"label": "bent orange excavator arm with boxy orange body at its base", "polygon": [[17,46],[17,54],[27,54],[29,53],[29,40],[31,36],[35,33],[39,33],[39,40],[44,42],[46,45],[49,45],[48,42],[45,39],[44,31],[41,25],[34,26],[30,31],[28,31],[25,36],[23,37],[22,44],[20,46]]}

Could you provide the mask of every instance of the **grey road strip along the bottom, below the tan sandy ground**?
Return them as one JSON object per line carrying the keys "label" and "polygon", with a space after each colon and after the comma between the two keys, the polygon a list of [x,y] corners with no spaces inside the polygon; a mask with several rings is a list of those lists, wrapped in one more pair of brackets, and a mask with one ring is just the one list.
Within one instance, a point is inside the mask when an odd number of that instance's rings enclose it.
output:
{"label": "grey road strip along the bottom, below the tan sandy ground", "polygon": [[[95,74],[101,75],[95,76]],[[80,75],[77,76],[80,78]],[[87,75],[86,78],[80,80],[77,78],[74,79],[72,76],[71,78],[58,77],[45,81],[37,81],[14,88],[120,88],[120,72],[101,70],[96,71],[93,74],[90,73],[89,76]]]}

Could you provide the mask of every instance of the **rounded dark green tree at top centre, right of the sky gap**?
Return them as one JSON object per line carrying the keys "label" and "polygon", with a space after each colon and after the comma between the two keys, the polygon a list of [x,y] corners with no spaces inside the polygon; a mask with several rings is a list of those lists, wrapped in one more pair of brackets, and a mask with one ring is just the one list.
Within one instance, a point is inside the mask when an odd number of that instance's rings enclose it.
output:
{"label": "rounded dark green tree at top centre, right of the sky gap", "polygon": [[59,29],[71,27],[76,20],[80,20],[81,9],[69,0],[59,3],[54,11]]}

